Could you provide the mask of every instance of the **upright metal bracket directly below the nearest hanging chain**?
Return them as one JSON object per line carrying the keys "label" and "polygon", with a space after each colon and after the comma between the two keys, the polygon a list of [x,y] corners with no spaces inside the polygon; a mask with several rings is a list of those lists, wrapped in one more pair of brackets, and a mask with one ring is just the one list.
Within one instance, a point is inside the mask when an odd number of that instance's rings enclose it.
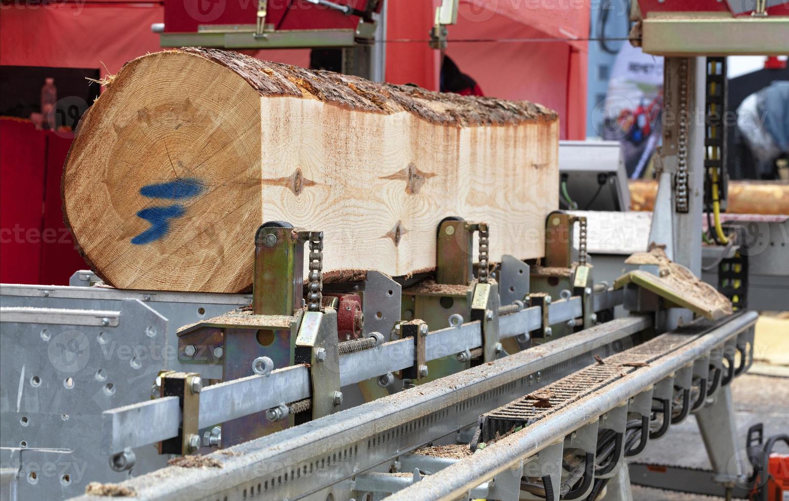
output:
{"label": "upright metal bracket directly below the nearest hanging chain", "polygon": [[[335,310],[305,312],[296,338],[295,363],[309,365],[312,419],[335,413],[342,404]],[[296,424],[308,421],[307,414],[296,414]]]}

